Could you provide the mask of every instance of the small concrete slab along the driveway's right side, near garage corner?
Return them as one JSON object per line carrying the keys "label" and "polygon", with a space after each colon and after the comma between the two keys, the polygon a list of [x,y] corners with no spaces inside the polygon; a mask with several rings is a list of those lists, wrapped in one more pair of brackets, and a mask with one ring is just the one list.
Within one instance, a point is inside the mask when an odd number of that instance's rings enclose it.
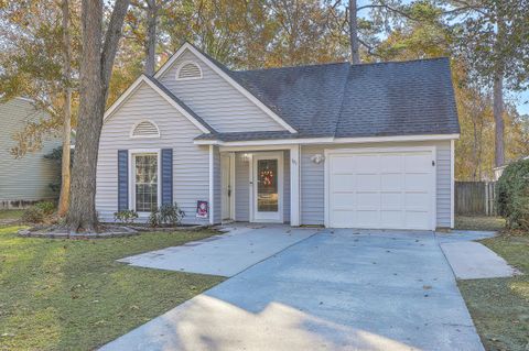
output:
{"label": "small concrete slab along the driveway's right side, near garage corner", "polygon": [[519,272],[487,246],[474,242],[495,232],[456,231],[438,234],[441,249],[458,279],[508,277]]}

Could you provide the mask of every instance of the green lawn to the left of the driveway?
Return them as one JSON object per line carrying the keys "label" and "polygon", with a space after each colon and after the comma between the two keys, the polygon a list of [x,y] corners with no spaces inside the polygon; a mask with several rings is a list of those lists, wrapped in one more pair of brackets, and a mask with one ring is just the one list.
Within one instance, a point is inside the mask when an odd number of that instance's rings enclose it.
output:
{"label": "green lawn to the left of the driveway", "polygon": [[0,227],[0,350],[93,350],[223,281],[115,260],[208,231],[25,239]]}

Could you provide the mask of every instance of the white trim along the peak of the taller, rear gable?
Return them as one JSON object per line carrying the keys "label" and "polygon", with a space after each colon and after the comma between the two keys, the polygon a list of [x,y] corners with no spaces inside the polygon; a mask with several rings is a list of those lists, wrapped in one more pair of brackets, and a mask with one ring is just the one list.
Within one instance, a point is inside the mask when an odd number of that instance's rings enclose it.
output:
{"label": "white trim along the peak of the taller, rear gable", "polygon": [[234,80],[229,75],[227,75],[224,70],[218,68],[218,66],[209,58],[204,56],[199,51],[197,51],[193,45],[190,43],[184,43],[179,51],[156,72],[154,78],[160,78],[169,68],[171,68],[174,62],[184,53],[184,51],[191,51],[196,57],[202,59],[209,68],[212,68],[216,74],[223,77],[227,83],[229,83],[235,89],[237,89],[240,94],[242,94],[248,100],[253,102],[257,107],[259,107],[266,114],[268,114],[271,119],[278,122],[281,127],[288,130],[291,133],[298,133],[295,129],[293,129],[289,123],[287,123],[281,117],[279,117],[276,112],[270,110],[264,103],[262,103],[258,98],[256,98],[251,92],[245,89],[240,84]]}

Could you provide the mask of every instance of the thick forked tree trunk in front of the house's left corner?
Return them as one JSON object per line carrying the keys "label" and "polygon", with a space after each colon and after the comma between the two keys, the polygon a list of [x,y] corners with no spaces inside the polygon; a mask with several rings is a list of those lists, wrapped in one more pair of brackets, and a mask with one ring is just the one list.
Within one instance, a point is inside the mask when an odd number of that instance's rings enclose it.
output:
{"label": "thick forked tree trunk in front of the house's left corner", "polygon": [[102,43],[102,1],[83,0],[80,103],[72,172],[71,232],[97,230],[96,171],[108,85],[129,0],[117,0]]}

